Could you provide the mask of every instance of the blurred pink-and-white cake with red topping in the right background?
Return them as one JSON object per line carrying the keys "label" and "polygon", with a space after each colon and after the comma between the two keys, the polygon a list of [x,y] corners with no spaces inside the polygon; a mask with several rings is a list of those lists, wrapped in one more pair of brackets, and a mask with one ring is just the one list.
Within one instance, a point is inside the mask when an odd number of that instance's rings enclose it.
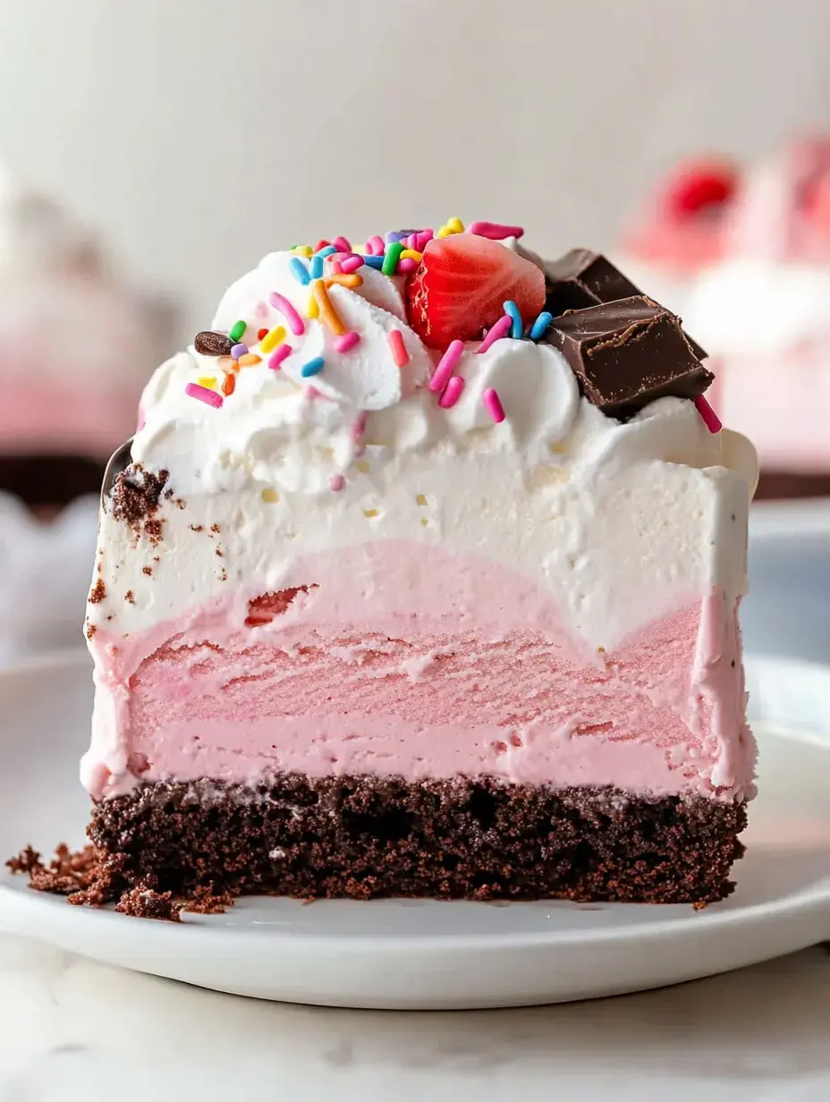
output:
{"label": "blurred pink-and-white cake with red topping in the right background", "polygon": [[759,453],[756,497],[830,495],[830,139],[740,174],[682,165],[623,252],[708,350],[712,404]]}

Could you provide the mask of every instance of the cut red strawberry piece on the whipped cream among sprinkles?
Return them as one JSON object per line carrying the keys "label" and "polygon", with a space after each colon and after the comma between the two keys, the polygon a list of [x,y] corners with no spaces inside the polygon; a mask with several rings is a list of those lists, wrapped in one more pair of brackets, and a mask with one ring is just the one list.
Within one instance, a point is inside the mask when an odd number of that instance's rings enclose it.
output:
{"label": "cut red strawberry piece on the whipped cream among sprinkles", "polygon": [[545,309],[545,276],[499,241],[452,234],[429,241],[407,283],[412,328],[431,348],[478,341],[513,299],[530,323]]}

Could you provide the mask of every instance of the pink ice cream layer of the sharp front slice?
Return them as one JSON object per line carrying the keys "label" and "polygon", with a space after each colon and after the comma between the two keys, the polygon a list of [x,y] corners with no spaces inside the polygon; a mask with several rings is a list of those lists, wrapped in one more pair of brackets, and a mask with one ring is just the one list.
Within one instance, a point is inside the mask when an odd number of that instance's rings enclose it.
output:
{"label": "pink ice cream layer of the sharp front slice", "polygon": [[282,770],[720,799],[751,787],[736,609],[721,593],[607,652],[574,646],[550,594],[511,570],[402,543],[311,557],[278,596],[249,601],[142,637],[97,631],[117,730],[85,759],[93,796]]}

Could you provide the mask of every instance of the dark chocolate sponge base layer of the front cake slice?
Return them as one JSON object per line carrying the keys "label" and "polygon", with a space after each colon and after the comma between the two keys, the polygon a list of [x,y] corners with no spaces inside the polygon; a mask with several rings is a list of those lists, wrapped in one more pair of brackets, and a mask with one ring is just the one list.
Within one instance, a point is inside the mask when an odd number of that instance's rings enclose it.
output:
{"label": "dark chocolate sponge base layer of the front cake slice", "polygon": [[745,825],[742,803],[702,797],[288,774],[148,784],[96,804],[87,832],[128,883],[174,895],[702,905],[732,890]]}

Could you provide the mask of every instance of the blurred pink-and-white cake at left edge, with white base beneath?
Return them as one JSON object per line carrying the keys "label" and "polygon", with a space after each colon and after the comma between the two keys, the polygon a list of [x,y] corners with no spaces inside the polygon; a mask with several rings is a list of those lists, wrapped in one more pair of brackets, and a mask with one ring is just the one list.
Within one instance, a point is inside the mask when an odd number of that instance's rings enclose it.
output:
{"label": "blurred pink-and-white cake at left edge, with white base beneath", "polygon": [[77,641],[104,467],[173,325],[0,172],[0,665]]}

